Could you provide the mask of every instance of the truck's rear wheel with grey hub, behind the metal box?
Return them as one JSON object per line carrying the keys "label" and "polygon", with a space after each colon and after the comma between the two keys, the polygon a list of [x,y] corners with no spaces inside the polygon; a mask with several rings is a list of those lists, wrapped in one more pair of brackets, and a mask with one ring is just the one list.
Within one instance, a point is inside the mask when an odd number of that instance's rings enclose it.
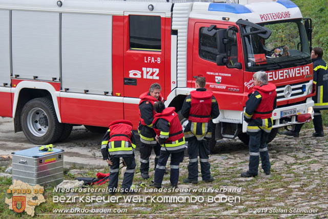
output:
{"label": "truck's rear wheel with grey hub, behind the metal box", "polygon": [[46,97],[31,99],[24,105],[20,124],[26,138],[36,145],[54,143],[63,133],[53,103]]}

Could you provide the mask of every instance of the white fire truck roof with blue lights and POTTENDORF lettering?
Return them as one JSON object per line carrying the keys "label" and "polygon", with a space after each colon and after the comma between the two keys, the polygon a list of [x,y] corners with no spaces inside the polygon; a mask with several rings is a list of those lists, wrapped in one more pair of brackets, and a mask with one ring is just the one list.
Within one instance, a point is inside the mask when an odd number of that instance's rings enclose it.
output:
{"label": "white fire truck roof with blue lights and POTTENDORF lettering", "polygon": [[[263,23],[284,19],[301,18],[299,8],[290,0],[65,0],[58,7],[53,0],[2,0],[0,9],[54,11],[68,13],[94,13],[128,15],[142,13],[171,17],[172,4],[192,5],[189,17],[199,19],[213,19],[222,21],[222,17],[229,17],[230,22],[238,19],[248,19],[253,23]],[[59,2],[59,1],[58,1]],[[239,4],[236,4],[236,3]],[[153,5],[153,10],[148,6]]]}

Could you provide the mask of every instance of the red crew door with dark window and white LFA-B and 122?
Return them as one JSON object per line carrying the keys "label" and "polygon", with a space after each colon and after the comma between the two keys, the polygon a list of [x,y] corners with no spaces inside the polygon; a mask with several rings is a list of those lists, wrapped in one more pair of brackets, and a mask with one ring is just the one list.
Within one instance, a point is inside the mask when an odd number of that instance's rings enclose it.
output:
{"label": "red crew door with dark window and white LFA-B and 122", "polygon": [[125,12],[124,21],[124,96],[139,97],[153,83],[165,86],[165,17]]}

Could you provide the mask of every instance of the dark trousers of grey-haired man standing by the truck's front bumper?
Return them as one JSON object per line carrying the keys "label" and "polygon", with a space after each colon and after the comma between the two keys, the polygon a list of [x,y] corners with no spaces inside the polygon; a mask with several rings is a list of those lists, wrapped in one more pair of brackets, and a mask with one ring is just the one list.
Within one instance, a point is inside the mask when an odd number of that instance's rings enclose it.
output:
{"label": "dark trousers of grey-haired man standing by the truck's front bumper", "polygon": [[253,132],[250,135],[250,163],[249,172],[251,174],[258,174],[259,156],[261,156],[262,169],[264,172],[270,171],[270,159],[269,152],[267,148],[268,136],[270,133],[260,130],[258,132]]}

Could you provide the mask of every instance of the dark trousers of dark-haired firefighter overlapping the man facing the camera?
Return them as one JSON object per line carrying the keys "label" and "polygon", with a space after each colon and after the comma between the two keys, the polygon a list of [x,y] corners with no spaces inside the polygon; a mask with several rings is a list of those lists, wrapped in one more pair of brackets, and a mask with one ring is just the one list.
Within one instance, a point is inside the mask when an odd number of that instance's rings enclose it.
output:
{"label": "dark trousers of dark-haired firefighter overlapping the man facing the camera", "polygon": [[183,156],[185,151],[180,151],[177,153],[171,153],[168,151],[161,150],[158,163],[155,169],[154,182],[156,184],[161,184],[165,174],[166,163],[171,154],[171,172],[170,172],[170,182],[172,185],[177,185],[179,181],[179,164],[183,161]]}

